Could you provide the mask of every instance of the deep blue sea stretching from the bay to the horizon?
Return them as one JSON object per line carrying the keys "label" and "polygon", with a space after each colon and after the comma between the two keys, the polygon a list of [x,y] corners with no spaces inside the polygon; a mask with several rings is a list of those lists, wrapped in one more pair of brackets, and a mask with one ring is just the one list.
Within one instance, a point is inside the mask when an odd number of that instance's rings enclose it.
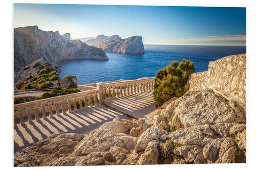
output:
{"label": "deep blue sea stretching from the bay to the horizon", "polygon": [[173,60],[194,62],[196,71],[208,69],[209,61],[246,53],[246,46],[144,45],[144,55],[106,53],[109,61],[71,60],[60,62],[60,78],[74,75],[78,84],[155,77]]}

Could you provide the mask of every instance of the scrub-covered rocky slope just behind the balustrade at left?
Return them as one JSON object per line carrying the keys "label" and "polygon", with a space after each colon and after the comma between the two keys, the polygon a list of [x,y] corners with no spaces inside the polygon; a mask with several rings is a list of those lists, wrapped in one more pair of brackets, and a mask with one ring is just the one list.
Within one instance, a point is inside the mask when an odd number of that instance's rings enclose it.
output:
{"label": "scrub-covered rocky slope just behind the balustrade at left", "polygon": [[[51,98],[58,95],[71,94],[75,92],[79,92],[77,89],[77,78],[75,76],[69,75],[63,79],[59,78],[58,67],[50,64],[49,62],[39,62],[35,61],[31,66],[31,74],[25,77],[25,79],[21,79],[18,83],[16,83],[16,90],[39,90],[39,89],[52,89],[51,92],[45,92],[42,96],[38,98],[14,98],[14,104],[30,102],[34,100]],[[29,66],[25,67],[30,69]],[[28,75],[28,74],[27,74]],[[65,80],[65,81],[61,81]],[[62,84],[61,84],[62,82]],[[70,85],[71,84],[71,85]]]}

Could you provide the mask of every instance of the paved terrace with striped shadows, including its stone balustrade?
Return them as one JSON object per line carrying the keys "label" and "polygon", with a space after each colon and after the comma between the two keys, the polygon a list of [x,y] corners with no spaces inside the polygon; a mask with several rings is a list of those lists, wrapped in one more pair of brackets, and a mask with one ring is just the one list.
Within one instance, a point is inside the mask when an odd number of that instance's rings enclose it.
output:
{"label": "paved terrace with striped shadows, including its stone balustrade", "polygon": [[[97,89],[14,105],[14,153],[53,133],[86,134],[115,117],[154,115],[154,79],[138,80],[98,83]],[[72,110],[73,101],[88,106]]]}

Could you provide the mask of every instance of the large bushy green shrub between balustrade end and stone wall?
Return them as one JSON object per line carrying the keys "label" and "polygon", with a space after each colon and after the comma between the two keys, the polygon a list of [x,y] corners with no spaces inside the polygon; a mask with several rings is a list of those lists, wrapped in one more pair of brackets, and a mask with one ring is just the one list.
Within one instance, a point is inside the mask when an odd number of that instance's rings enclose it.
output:
{"label": "large bushy green shrub between balustrade end and stone wall", "polygon": [[156,106],[161,106],[174,96],[182,96],[189,88],[188,78],[195,71],[194,63],[183,59],[180,65],[172,61],[160,69],[155,78],[154,99]]}

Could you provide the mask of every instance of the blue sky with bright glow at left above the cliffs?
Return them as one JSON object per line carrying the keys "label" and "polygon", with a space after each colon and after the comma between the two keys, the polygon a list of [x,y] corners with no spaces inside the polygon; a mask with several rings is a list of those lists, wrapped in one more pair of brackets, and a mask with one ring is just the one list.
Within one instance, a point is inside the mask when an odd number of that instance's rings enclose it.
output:
{"label": "blue sky with bright glow at left above the cliffs", "polygon": [[246,8],[14,4],[14,28],[73,39],[142,36],[144,44],[246,45]]}

